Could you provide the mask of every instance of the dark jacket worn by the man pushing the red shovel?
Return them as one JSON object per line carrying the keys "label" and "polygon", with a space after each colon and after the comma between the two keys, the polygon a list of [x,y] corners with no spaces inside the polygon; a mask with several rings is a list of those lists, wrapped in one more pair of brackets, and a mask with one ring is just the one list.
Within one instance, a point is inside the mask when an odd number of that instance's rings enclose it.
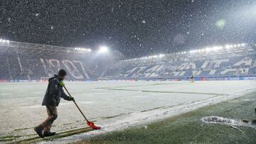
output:
{"label": "dark jacket worn by the man pushing the red shovel", "polygon": [[48,79],[48,87],[46,89],[46,95],[43,98],[42,106],[58,106],[60,104],[60,98],[70,101],[70,96],[65,94],[63,87],[60,85],[60,77],[54,75]]}

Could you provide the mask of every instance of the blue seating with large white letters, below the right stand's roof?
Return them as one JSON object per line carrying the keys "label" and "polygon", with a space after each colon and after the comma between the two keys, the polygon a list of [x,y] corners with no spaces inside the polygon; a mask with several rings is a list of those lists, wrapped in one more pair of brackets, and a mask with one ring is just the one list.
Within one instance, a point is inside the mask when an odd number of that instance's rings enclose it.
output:
{"label": "blue seating with large white letters, below the right stand's roof", "polygon": [[[114,70],[111,70],[114,72]],[[251,76],[256,74],[255,55],[223,57],[214,60],[198,60],[171,62],[169,64],[134,65],[119,67],[107,77],[112,79],[154,79],[183,77],[213,77],[213,76]]]}

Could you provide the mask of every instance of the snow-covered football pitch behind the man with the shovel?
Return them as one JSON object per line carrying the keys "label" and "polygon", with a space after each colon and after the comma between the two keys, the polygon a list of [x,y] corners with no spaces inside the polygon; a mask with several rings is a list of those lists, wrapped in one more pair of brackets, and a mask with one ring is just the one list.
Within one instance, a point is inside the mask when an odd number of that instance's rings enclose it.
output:
{"label": "snow-covered football pitch behind the man with the shovel", "polygon": [[[202,106],[234,99],[256,88],[256,81],[205,82],[66,82],[80,109],[98,126],[90,131],[62,138],[73,141],[138,124],[146,124]],[[21,135],[17,140],[35,137],[33,127],[47,117],[41,106],[47,83],[0,84],[0,135]],[[66,93],[67,94],[67,93]],[[73,101],[62,99],[52,131],[87,127]]]}

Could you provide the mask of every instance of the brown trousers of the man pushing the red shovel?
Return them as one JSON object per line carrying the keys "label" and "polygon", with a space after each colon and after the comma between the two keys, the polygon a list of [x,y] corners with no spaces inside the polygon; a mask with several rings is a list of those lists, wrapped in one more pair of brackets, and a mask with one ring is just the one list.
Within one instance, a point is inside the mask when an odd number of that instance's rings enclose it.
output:
{"label": "brown trousers of the man pushing the red shovel", "polygon": [[57,106],[46,106],[46,111],[48,118],[39,125],[43,129],[43,133],[50,131],[53,121],[58,117]]}

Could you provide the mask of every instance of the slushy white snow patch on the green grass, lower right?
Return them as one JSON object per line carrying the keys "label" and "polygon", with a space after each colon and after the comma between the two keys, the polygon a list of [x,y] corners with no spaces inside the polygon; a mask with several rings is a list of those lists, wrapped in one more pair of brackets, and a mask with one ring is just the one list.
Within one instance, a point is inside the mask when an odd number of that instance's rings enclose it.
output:
{"label": "slushy white snow patch on the green grass, lower right", "polygon": [[250,128],[256,128],[256,120],[240,120],[240,119],[232,119],[232,118],[223,118],[220,116],[206,116],[201,118],[201,121],[204,123],[220,123],[228,126],[246,126]]}

